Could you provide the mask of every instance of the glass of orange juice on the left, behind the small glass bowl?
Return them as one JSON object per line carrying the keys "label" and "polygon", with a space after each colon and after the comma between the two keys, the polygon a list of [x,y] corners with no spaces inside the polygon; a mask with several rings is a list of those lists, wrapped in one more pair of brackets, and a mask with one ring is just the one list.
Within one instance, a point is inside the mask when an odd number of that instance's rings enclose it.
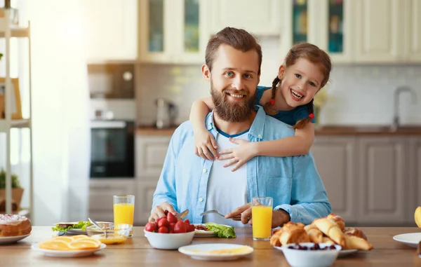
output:
{"label": "glass of orange juice on the left, behind the small glass bowl", "polygon": [[[135,196],[113,196],[114,204],[114,225],[131,224],[133,226],[133,217],[135,215]],[[130,233],[133,236],[133,230]]]}

